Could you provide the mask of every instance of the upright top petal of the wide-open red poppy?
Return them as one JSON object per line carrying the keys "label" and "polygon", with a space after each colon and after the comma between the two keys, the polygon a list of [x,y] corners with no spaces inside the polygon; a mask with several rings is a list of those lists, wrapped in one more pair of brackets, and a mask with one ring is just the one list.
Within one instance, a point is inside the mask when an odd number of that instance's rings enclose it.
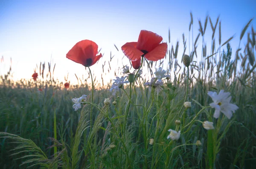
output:
{"label": "upright top petal of the wide-open red poppy", "polygon": [[140,31],[140,36],[137,43],[137,49],[144,50],[147,52],[152,51],[154,48],[162,42],[163,37],[160,35],[146,30]]}

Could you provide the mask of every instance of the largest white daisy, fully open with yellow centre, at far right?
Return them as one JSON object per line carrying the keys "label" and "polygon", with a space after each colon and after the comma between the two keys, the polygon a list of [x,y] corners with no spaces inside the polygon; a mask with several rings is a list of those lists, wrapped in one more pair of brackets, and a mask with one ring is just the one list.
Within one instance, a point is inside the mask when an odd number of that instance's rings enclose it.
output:
{"label": "largest white daisy, fully open with yellow centre, at far right", "polygon": [[235,113],[235,111],[239,108],[236,104],[231,104],[231,96],[229,92],[224,92],[221,90],[219,94],[216,92],[208,92],[208,95],[212,98],[213,103],[210,104],[212,108],[215,108],[215,112],[213,117],[218,118],[220,116],[220,112],[227,116],[230,119]]}

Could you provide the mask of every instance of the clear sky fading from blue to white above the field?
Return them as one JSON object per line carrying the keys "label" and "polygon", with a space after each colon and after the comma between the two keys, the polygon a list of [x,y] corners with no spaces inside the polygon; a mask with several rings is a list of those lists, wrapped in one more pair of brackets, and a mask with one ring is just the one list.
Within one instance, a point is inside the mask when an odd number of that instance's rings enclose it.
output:
{"label": "clear sky fading from blue to white above the field", "polygon": [[[235,53],[242,28],[256,17],[255,6],[256,0],[0,0],[0,55],[5,59],[0,74],[6,73],[12,57],[14,78],[31,78],[36,64],[50,62],[52,55],[55,76],[63,80],[70,73],[69,80],[75,83],[74,73],[87,76],[82,65],[66,58],[76,42],[90,39],[102,48],[103,58],[91,66],[101,74],[110,51],[116,55],[114,62],[123,57],[113,44],[120,49],[125,42],[137,41],[142,29],[161,35],[166,42],[170,28],[171,44],[179,40],[182,50],[182,34],[188,39],[190,11],[194,37],[199,18],[204,23],[209,14],[215,23],[220,14],[222,42],[236,34],[231,42]],[[256,19],[252,24],[256,25]],[[212,34],[209,23],[207,34]],[[128,64],[128,59],[122,62]]]}

